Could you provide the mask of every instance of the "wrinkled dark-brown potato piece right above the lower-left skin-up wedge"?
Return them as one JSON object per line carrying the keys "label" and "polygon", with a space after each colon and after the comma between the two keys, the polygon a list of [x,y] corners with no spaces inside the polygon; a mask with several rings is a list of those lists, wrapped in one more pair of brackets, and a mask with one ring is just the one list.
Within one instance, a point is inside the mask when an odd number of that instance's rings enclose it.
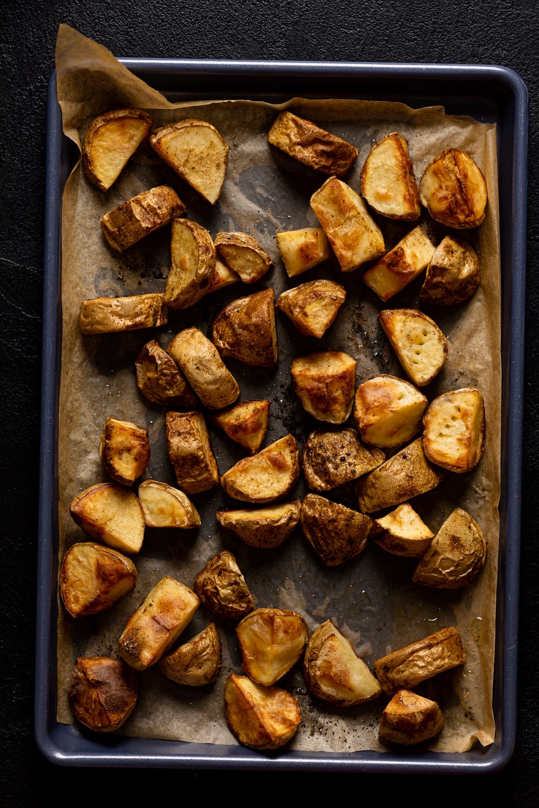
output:
{"label": "wrinkled dark-brown potato piece right above the lower-left skin-up wedge", "polygon": [[195,583],[196,594],[217,617],[239,620],[255,608],[251,592],[229,550],[210,558]]}

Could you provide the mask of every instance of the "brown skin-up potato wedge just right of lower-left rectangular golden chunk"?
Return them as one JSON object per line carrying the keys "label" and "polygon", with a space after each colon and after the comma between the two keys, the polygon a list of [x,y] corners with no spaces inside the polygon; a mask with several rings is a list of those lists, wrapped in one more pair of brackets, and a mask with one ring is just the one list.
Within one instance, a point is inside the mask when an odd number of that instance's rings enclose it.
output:
{"label": "brown skin-up potato wedge just right of lower-left rectangular golden chunk", "polygon": [[221,671],[221,638],[215,623],[196,634],[171,654],[159,659],[159,670],[176,684],[201,688],[217,679]]}

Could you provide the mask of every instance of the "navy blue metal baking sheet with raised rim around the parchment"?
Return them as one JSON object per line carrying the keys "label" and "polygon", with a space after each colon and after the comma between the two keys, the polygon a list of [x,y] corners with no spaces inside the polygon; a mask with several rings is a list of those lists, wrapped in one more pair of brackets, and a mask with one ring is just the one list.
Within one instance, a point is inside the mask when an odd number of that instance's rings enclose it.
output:
{"label": "navy blue metal baking sheet with raised rim around the parchment", "polygon": [[[53,763],[71,766],[237,768],[279,771],[488,773],[503,768],[516,738],[520,483],[524,377],[524,292],[528,173],[528,90],[495,65],[187,61],[121,59],[174,100],[307,98],[443,105],[497,126],[502,268],[502,490],[493,707],[495,742],[463,753],[264,754],[241,746],[95,736],[58,724],[57,415],[61,356],[61,196],[78,152],[63,135],[56,73],[48,87],[44,308],[40,444],[40,535],[36,632],[36,741]],[[178,87],[189,87],[178,93]]]}

